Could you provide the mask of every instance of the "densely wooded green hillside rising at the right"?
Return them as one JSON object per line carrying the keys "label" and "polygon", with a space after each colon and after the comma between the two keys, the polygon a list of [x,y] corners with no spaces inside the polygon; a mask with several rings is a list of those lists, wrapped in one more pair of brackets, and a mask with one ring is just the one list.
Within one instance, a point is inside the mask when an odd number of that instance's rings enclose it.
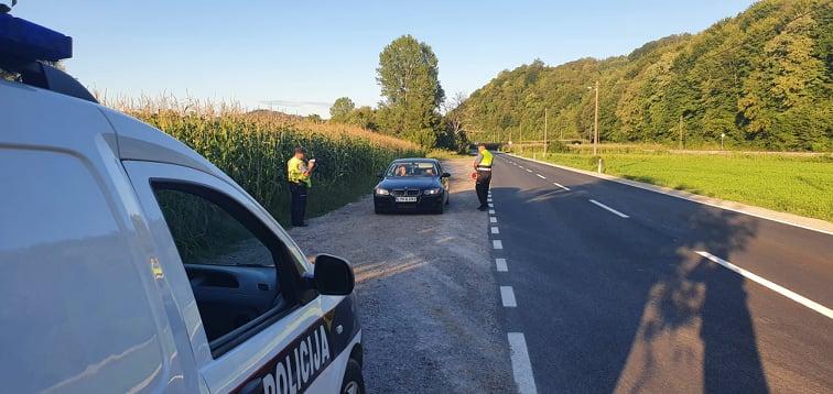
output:
{"label": "densely wooded green hillside rising at the right", "polygon": [[[603,141],[833,149],[833,3],[765,0],[699,34],[674,35],[627,56],[504,70],[472,94],[469,132],[587,139],[599,89]],[[682,120],[682,121],[681,121]],[[520,133],[520,134],[519,134]]]}

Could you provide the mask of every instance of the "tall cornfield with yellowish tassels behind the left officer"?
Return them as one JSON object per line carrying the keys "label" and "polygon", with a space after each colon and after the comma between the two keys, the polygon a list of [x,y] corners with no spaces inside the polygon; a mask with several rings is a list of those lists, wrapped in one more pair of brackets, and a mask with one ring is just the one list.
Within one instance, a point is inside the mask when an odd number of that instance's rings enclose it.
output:
{"label": "tall cornfield with yellowish tassels behind the left officer", "polygon": [[307,216],[367,194],[398,157],[423,156],[418,145],[336,123],[246,113],[234,105],[172,98],[107,102],[191,146],[228,174],[272,216],[289,223],[286,161],[295,146],[316,158]]}

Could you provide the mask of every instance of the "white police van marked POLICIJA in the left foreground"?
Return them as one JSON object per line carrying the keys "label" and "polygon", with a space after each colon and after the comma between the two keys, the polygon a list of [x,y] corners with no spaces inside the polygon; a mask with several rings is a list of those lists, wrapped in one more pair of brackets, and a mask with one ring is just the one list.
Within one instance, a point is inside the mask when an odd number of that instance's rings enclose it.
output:
{"label": "white police van marked POLICIJA in the left foreground", "polygon": [[[361,393],[347,262],[43,63],[0,10],[0,392]],[[7,74],[8,76],[9,74]]]}

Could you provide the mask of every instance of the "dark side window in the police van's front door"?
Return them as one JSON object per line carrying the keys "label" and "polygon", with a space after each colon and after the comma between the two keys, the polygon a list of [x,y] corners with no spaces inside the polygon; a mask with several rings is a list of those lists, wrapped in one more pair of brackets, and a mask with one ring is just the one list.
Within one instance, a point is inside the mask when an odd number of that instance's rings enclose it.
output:
{"label": "dark side window in the police van's front door", "polygon": [[160,183],[153,193],[215,355],[295,305],[294,289],[281,286],[284,245],[246,208],[194,185]]}

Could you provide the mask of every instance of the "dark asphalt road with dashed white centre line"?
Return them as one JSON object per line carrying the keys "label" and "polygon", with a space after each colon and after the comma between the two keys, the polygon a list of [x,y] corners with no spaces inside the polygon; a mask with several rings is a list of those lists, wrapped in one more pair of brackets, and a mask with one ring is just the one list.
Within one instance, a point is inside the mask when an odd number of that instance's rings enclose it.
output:
{"label": "dark asphalt road with dashed white centre line", "polygon": [[531,365],[512,348],[516,381],[540,393],[833,392],[833,236],[507,155],[491,190],[500,319]]}

